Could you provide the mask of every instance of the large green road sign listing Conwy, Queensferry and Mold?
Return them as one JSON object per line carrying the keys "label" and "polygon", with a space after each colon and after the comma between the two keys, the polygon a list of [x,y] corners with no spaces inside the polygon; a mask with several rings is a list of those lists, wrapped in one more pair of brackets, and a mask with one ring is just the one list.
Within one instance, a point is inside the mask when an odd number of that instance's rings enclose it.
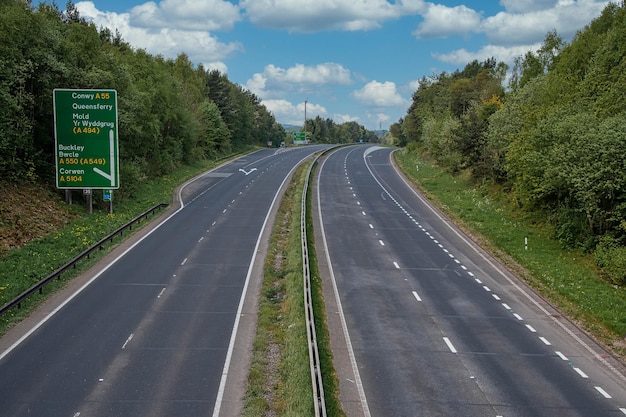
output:
{"label": "large green road sign listing Conwy, Queensferry and Mold", "polygon": [[54,90],[57,188],[117,189],[115,90]]}

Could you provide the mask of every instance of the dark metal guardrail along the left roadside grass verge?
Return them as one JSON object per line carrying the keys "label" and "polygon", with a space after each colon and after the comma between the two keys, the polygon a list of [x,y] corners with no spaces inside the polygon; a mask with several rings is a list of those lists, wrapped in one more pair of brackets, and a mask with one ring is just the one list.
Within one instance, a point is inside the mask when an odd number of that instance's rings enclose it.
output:
{"label": "dark metal guardrail along the left roadside grass verge", "polygon": [[34,294],[37,291],[39,291],[39,294],[43,293],[43,287],[46,284],[50,283],[50,281],[53,281],[54,279],[61,279],[61,275],[64,272],[66,272],[68,269],[70,269],[70,268],[74,268],[75,269],[76,268],[76,264],[81,259],[83,259],[85,257],[87,259],[89,259],[89,256],[94,251],[96,251],[98,249],[102,249],[102,246],[107,241],[113,242],[113,239],[116,236],[118,236],[118,235],[121,236],[126,230],[132,230],[133,225],[135,225],[136,223],[139,223],[144,218],[147,218],[148,215],[154,214],[155,211],[157,211],[159,209],[162,209],[163,207],[167,207],[167,204],[165,204],[165,203],[157,204],[156,206],[152,207],[151,209],[146,210],[145,212],[143,212],[139,216],[135,217],[130,222],[126,223],[125,225],[123,225],[121,227],[119,227],[117,230],[115,230],[114,232],[112,232],[111,234],[106,236],[105,238],[103,238],[100,241],[98,241],[98,243],[96,243],[95,245],[91,246],[89,249],[86,249],[85,251],[83,251],[81,254],[79,254],[78,256],[73,258],[71,261],[69,261],[68,263],[66,263],[65,265],[63,265],[62,267],[57,269],[56,271],[54,271],[52,274],[48,275],[46,278],[42,279],[37,284],[33,285],[32,287],[30,287],[29,289],[27,289],[26,291],[24,291],[23,293],[21,293],[20,295],[15,297],[13,300],[9,301],[7,304],[2,306],[2,308],[0,308],[0,316],[4,315],[9,310],[12,310],[15,307],[21,308],[22,307],[22,302],[26,298],[28,298],[29,296],[31,296],[32,294]]}

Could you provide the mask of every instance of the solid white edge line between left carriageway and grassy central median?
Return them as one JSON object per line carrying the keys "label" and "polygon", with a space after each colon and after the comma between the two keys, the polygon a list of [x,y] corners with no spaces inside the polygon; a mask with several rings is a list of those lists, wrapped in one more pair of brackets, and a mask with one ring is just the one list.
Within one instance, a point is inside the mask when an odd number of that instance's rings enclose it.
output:
{"label": "solid white edge line between left carriageway and grassy central median", "polygon": [[248,285],[250,284],[250,277],[252,276],[252,270],[254,269],[254,262],[256,260],[256,255],[259,251],[259,246],[261,245],[261,240],[263,238],[263,232],[267,227],[267,223],[278,200],[278,196],[280,195],[280,191],[285,186],[287,179],[291,176],[291,174],[298,168],[305,160],[307,160],[311,155],[307,155],[302,158],[297,164],[291,168],[291,170],[285,175],[283,182],[278,187],[276,194],[274,194],[274,199],[272,200],[272,204],[267,210],[267,215],[265,216],[265,220],[263,220],[263,226],[261,226],[261,231],[259,232],[259,237],[256,241],[256,246],[254,247],[254,252],[252,254],[252,259],[250,260],[250,266],[248,267],[248,273],[246,275],[246,282],[243,286],[243,291],[241,292],[241,298],[239,299],[239,307],[237,307],[237,315],[235,316],[235,323],[233,325],[233,332],[230,335],[230,343],[228,344],[228,351],[226,353],[226,360],[224,361],[224,369],[222,370],[222,378],[220,380],[220,386],[217,390],[217,398],[215,399],[215,408],[213,409],[213,417],[218,417],[220,415],[220,409],[222,407],[222,400],[224,399],[224,390],[226,389],[226,380],[228,378],[228,371],[230,370],[230,362],[233,358],[233,351],[235,350],[235,340],[237,339],[237,331],[239,330],[239,321],[241,320],[241,312],[243,311],[244,301],[246,299],[246,294],[248,293]]}

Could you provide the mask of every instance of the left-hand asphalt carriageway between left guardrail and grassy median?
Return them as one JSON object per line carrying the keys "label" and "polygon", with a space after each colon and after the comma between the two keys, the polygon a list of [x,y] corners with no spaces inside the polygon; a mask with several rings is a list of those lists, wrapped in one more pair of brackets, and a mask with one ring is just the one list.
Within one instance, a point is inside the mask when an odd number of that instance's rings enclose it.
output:
{"label": "left-hand asphalt carriageway between left guardrail and grassy median", "polygon": [[240,394],[224,387],[270,209],[319,149],[257,151],[187,184],[182,209],[0,351],[0,416],[218,415]]}

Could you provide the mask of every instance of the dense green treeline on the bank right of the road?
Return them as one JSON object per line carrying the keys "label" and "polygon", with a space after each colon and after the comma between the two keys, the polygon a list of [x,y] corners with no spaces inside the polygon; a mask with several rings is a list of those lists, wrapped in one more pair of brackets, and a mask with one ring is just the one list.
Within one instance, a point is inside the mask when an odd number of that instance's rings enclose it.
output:
{"label": "dense green treeline on the bank right of the road", "polygon": [[626,8],[609,4],[566,44],[556,32],[506,65],[424,78],[392,126],[401,145],[497,184],[568,247],[626,283]]}

